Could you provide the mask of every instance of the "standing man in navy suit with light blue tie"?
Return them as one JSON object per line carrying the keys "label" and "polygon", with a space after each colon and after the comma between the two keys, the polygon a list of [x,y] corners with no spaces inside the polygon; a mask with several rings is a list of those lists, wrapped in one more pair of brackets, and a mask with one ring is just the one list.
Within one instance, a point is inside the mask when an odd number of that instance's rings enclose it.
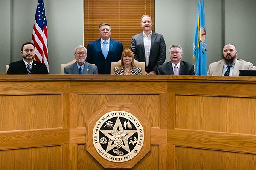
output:
{"label": "standing man in navy suit with light blue tie", "polygon": [[87,46],[87,62],[98,67],[99,74],[110,74],[110,63],[121,59],[123,45],[110,39],[111,27],[107,23],[99,25],[100,39]]}

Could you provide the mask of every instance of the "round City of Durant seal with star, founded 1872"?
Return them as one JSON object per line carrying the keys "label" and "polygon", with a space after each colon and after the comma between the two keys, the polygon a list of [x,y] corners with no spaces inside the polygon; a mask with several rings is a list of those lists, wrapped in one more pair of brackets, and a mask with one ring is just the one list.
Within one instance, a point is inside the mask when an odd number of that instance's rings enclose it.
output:
{"label": "round City of Durant seal with star, founded 1872", "polygon": [[140,121],[126,111],[104,114],[93,128],[93,144],[104,159],[125,162],[141,150],[144,131]]}

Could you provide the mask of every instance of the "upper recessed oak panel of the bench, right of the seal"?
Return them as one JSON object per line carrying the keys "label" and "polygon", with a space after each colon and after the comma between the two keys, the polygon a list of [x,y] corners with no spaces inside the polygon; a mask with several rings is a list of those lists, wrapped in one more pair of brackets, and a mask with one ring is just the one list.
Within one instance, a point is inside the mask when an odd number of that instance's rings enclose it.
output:
{"label": "upper recessed oak panel of the bench, right of the seal", "polygon": [[256,98],[176,95],[175,102],[176,128],[256,133]]}

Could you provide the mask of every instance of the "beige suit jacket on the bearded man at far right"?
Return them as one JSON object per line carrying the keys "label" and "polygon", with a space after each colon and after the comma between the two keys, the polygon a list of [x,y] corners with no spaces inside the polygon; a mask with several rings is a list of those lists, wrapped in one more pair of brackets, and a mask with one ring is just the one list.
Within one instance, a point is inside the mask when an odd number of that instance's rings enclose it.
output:
{"label": "beige suit jacket on the bearded man at far right", "polygon": [[[224,63],[224,59],[211,63],[207,71],[207,76],[222,76]],[[253,70],[253,64],[241,59],[236,59],[232,76],[239,76],[239,70]]]}

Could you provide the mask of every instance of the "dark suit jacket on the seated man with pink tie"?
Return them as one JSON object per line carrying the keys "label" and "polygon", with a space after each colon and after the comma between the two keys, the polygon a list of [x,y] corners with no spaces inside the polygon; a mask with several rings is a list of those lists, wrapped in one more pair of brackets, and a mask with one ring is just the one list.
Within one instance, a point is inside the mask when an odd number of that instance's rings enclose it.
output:
{"label": "dark suit jacket on the seated man with pink tie", "polygon": [[[169,74],[172,75],[173,73],[173,68],[172,68],[172,62],[166,62],[163,65],[160,65],[158,67],[158,74]],[[185,62],[185,61],[180,61],[180,75],[195,75],[194,71],[194,65]]]}

